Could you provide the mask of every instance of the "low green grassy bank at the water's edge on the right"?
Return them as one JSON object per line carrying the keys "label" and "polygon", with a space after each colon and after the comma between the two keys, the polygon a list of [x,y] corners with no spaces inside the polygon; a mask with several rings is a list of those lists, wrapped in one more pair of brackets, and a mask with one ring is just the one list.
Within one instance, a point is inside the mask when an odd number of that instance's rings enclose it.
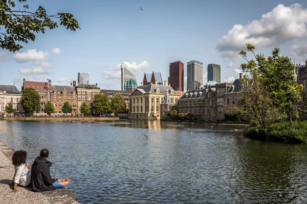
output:
{"label": "low green grassy bank at the water's edge on the right", "polygon": [[273,123],[266,132],[259,127],[247,126],[244,136],[254,139],[307,143],[307,120]]}

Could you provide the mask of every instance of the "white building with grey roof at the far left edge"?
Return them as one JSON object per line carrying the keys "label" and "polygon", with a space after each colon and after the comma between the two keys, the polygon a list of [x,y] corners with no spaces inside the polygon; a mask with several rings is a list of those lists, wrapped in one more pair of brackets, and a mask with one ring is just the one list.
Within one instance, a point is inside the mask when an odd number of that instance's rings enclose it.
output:
{"label": "white building with grey roof at the far left edge", "polygon": [[23,107],[20,104],[21,92],[15,85],[0,84],[0,114],[5,115],[5,107],[11,103],[15,109],[14,114],[23,112]]}

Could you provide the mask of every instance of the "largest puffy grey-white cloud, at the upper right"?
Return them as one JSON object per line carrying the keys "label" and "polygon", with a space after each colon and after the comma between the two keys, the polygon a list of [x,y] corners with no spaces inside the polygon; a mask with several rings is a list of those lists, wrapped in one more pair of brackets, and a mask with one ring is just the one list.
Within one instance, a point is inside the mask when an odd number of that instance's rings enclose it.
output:
{"label": "largest puffy grey-white cloud, at the upper right", "polygon": [[239,58],[246,43],[257,47],[276,46],[307,36],[307,9],[300,4],[277,5],[271,12],[247,25],[235,24],[217,43],[217,50],[225,60]]}

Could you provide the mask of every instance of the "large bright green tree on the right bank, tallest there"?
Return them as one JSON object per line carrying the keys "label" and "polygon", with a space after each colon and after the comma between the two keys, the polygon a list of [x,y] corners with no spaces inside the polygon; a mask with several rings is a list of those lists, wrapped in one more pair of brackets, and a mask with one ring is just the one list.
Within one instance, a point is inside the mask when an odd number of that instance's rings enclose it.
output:
{"label": "large bright green tree on the right bank, tallest there", "polygon": [[[291,59],[279,56],[279,48],[274,48],[272,56],[268,58],[261,54],[255,55],[254,49],[255,46],[247,44],[247,50],[239,53],[247,61],[241,64],[242,70],[252,78],[259,77],[259,82],[268,90],[272,106],[278,109],[283,118],[291,120],[297,117],[296,106],[302,86],[296,83]],[[248,53],[252,53],[255,60],[248,60]]]}

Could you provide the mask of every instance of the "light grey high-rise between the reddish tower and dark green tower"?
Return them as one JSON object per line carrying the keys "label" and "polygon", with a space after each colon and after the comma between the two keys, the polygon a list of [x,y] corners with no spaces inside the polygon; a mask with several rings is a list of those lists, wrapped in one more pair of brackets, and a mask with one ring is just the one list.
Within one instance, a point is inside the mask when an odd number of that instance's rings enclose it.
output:
{"label": "light grey high-rise between the reddish tower and dark green tower", "polygon": [[187,88],[195,90],[203,86],[203,63],[193,60],[187,63]]}

